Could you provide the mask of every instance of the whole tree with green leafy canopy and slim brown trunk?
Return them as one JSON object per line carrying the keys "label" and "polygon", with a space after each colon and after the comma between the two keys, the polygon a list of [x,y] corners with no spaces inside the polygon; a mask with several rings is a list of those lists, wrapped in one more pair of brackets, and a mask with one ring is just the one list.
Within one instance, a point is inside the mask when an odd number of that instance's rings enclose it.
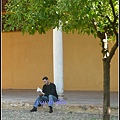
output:
{"label": "whole tree with green leafy canopy and slim brown trunk", "polygon": [[[98,37],[103,54],[103,120],[110,119],[110,63],[118,48],[118,0],[8,0],[4,30],[34,35],[58,28]],[[109,50],[109,41],[114,45]]]}

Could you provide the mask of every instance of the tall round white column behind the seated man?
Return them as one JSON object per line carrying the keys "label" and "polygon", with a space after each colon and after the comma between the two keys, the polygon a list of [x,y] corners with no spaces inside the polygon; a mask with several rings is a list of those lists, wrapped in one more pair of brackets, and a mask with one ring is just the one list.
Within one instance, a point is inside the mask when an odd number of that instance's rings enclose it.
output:
{"label": "tall round white column behind the seated man", "polygon": [[62,31],[53,30],[53,69],[54,83],[59,96],[63,96],[63,44]]}

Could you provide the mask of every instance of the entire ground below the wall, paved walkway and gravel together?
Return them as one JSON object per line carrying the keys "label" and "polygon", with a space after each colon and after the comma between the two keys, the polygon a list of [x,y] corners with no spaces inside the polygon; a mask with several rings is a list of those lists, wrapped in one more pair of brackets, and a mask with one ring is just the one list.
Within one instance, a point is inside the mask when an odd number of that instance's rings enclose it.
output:
{"label": "entire ground below the wall, paved walkway and gravel together", "polygon": [[[2,120],[102,120],[103,93],[65,91],[63,104],[54,104],[30,113],[37,97],[36,90],[2,90]],[[111,92],[111,120],[118,120],[118,93]]]}

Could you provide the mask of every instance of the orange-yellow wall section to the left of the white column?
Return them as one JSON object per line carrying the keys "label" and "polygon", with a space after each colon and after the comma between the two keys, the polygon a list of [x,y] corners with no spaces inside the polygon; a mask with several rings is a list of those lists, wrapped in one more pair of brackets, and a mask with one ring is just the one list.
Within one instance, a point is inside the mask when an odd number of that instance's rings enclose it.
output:
{"label": "orange-yellow wall section to the left of the white column", "polygon": [[25,35],[2,34],[2,87],[35,89],[42,77],[53,79],[52,32]]}

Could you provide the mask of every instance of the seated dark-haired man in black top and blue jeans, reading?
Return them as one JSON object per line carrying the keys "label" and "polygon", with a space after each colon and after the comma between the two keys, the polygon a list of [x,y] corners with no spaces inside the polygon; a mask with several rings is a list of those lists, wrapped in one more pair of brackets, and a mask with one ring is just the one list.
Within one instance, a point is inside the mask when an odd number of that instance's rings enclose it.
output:
{"label": "seated dark-haired man in black top and blue jeans, reading", "polygon": [[39,96],[35,100],[33,109],[30,110],[30,112],[37,111],[38,106],[41,106],[43,102],[47,102],[49,106],[49,113],[53,112],[53,103],[58,101],[58,94],[56,91],[56,86],[54,83],[51,83],[48,79],[48,77],[43,77],[43,88],[42,91],[39,91]]}

